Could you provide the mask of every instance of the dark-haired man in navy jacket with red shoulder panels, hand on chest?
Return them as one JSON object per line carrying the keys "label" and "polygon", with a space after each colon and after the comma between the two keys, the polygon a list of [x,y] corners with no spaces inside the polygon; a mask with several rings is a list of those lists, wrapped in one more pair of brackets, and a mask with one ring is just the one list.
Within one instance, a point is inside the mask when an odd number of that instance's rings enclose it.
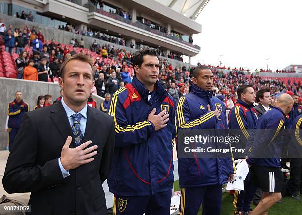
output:
{"label": "dark-haired man in navy jacket with red shoulder panels, hand on chest", "polygon": [[154,49],[135,52],[132,83],[108,104],[115,121],[115,152],[107,179],[114,215],[169,215],[173,185],[175,103],[160,85]]}

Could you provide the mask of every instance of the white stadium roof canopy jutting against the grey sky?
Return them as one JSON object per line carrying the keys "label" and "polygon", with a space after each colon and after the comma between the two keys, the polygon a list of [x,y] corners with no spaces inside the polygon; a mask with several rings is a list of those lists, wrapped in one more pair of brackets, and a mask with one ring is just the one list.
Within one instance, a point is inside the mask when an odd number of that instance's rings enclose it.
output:
{"label": "white stadium roof canopy jutting against the grey sky", "polygon": [[195,20],[210,0],[155,0]]}

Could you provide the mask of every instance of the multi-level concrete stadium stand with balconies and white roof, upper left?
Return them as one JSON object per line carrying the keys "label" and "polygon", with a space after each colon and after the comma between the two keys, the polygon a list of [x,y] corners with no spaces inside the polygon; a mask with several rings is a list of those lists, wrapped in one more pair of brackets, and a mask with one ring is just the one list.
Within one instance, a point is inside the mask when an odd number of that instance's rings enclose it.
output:
{"label": "multi-level concrete stadium stand with balconies and white roof, upper left", "polygon": [[[0,0],[0,12],[15,16],[16,12],[32,11],[34,22],[57,28],[69,23],[76,29],[93,29],[123,37],[130,43],[160,48],[165,56],[170,52],[189,57],[200,52],[200,47],[188,41],[201,33],[201,25],[194,21],[209,0],[104,0],[106,7],[99,9],[89,0]],[[181,10],[178,10],[181,5]],[[127,11],[132,19],[109,13],[106,8]],[[167,30],[162,31],[138,21],[150,20]],[[174,34],[173,34],[174,33]],[[179,35],[178,37],[175,36]]]}

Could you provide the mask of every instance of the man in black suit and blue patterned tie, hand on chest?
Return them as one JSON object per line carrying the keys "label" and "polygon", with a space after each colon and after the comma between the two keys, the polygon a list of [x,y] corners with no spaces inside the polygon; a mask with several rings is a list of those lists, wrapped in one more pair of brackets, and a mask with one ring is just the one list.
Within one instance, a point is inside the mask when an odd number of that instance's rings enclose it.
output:
{"label": "man in black suit and blue patterned tie, hand on chest", "polygon": [[87,105],[94,76],[89,57],[73,55],[60,73],[63,98],[24,115],[3,186],[8,193],[31,192],[32,215],[107,215],[102,183],[113,159],[113,117]]}

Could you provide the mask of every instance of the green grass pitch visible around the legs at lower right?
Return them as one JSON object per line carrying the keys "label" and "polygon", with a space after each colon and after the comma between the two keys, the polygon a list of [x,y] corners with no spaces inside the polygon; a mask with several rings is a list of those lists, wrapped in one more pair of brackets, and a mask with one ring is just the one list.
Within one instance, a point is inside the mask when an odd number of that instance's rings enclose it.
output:
{"label": "green grass pitch visible around the legs at lower right", "polygon": [[[174,182],[174,191],[180,191],[178,181]],[[283,204],[275,204],[269,209],[269,215],[302,215],[302,202],[290,197],[282,198]],[[229,193],[223,193],[221,215],[233,215],[233,196]],[[255,206],[252,204],[252,208]],[[198,212],[202,215],[202,209]]]}

